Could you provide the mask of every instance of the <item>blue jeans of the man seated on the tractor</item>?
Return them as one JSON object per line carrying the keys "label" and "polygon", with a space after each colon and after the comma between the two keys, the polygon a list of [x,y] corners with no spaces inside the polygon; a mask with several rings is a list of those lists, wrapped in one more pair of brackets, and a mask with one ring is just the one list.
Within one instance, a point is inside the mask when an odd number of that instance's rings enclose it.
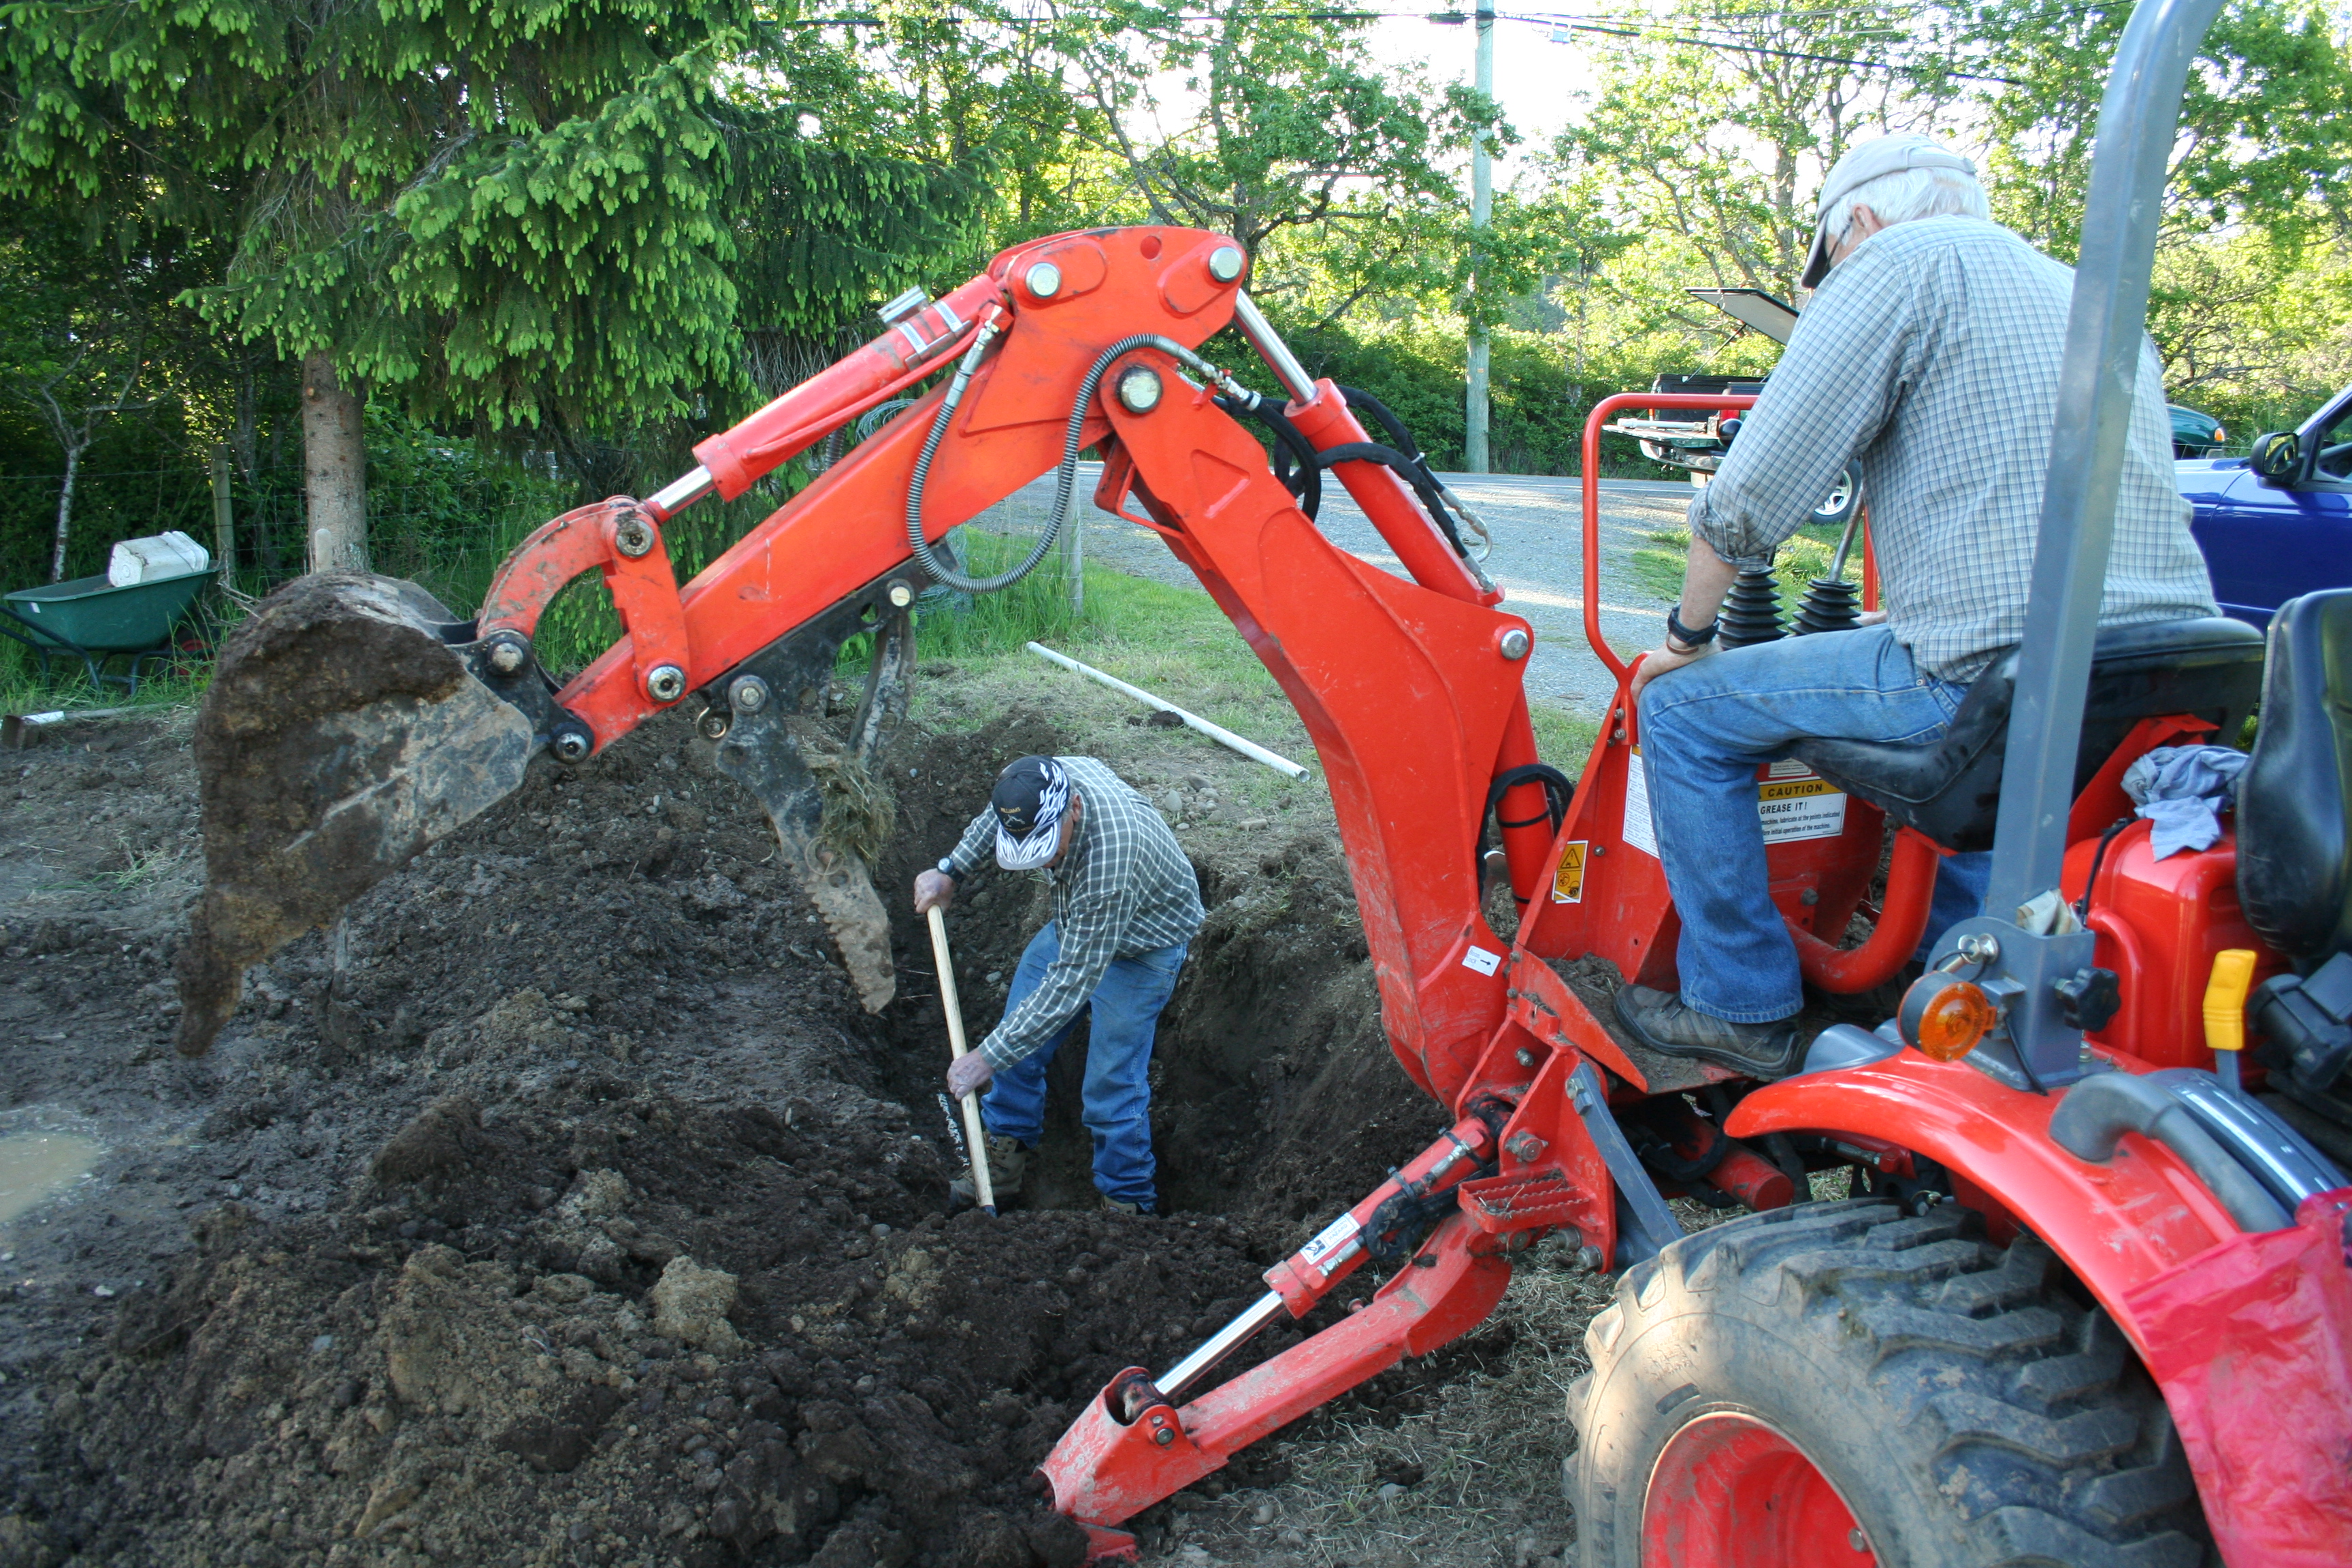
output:
{"label": "blue jeans of the man seated on the tractor", "polygon": [[[1797,741],[1943,736],[1966,686],[1919,675],[1884,625],[1783,637],[1670,670],[1642,691],[1642,764],[1665,882],[1682,912],[1682,999],[1726,1023],[1804,1006],[1797,945],[1766,889],[1757,766]],[[1926,945],[1985,903],[1990,856],[1950,856]],[[1924,947],[1922,947],[1924,950]]]}

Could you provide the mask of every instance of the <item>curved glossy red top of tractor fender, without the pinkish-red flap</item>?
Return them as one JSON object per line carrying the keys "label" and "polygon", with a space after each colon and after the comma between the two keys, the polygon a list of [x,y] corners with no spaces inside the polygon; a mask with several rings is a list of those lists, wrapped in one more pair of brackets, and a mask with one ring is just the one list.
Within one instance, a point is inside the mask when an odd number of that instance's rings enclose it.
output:
{"label": "curved glossy red top of tractor fender, without the pinkish-red flap", "polygon": [[1806,1072],[1733,1107],[1733,1138],[1860,1133],[1926,1154],[2042,1237],[2145,1359],[2131,1295],[2239,1229],[2169,1147],[2122,1133],[2093,1164],[2049,1133],[2058,1095],[2009,1088],[1966,1063],[1898,1051],[1860,1067]]}

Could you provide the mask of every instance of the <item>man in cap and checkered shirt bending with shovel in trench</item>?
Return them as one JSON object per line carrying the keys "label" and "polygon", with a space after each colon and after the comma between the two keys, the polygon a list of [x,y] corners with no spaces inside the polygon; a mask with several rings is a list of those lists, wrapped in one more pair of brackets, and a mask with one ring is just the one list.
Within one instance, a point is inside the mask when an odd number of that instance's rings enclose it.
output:
{"label": "man in cap and checkered shirt bending with shovel in trench", "polygon": [[[997,773],[988,809],[955,851],[915,877],[915,914],[948,907],[990,849],[1002,870],[1044,872],[1054,919],[1021,954],[1004,1018],[948,1067],[948,1093],[988,1088],[988,1173],[997,1199],[1016,1197],[1044,1135],[1044,1070],[1091,1004],[1084,1121],[1094,1187],[1103,1208],[1157,1213],[1152,1032],[1202,922],[1192,863],[1152,804],[1101,762],[1021,757]],[[974,1201],[969,1171],[955,1197]]]}

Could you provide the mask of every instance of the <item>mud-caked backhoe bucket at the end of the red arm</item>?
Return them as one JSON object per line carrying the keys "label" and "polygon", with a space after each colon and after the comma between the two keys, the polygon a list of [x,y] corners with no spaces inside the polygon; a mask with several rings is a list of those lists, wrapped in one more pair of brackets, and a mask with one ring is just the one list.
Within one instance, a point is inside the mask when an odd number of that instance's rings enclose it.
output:
{"label": "mud-caked backhoe bucket at the end of the red arm", "polygon": [[205,900],[179,950],[183,1056],[238,1011],[245,969],[522,785],[532,722],[475,679],[426,590],[299,578],[221,649],[195,722]]}

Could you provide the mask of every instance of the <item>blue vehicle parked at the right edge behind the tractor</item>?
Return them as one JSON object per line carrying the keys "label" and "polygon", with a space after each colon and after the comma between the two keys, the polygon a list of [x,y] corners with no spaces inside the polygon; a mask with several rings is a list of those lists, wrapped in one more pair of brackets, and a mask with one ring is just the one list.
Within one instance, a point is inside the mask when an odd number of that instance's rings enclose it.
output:
{"label": "blue vehicle parked at the right edge behind the tractor", "polygon": [[2223,614],[2267,628],[2300,592],[2352,588],[2352,388],[2249,456],[2173,463],[2173,484]]}

